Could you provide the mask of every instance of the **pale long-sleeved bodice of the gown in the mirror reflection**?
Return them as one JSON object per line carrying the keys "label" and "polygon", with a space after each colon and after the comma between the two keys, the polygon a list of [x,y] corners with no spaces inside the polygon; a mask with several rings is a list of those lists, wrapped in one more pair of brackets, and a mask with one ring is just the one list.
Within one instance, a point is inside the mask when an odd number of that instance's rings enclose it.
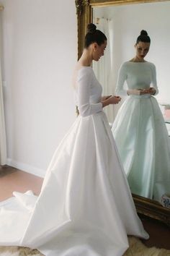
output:
{"label": "pale long-sleeved bodice of the gown in the mirror reflection", "polygon": [[125,81],[129,90],[148,89],[152,86],[156,89],[156,94],[158,93],[156,67],[151,62],[126,61],[123,63],[117,78],[115,92],[117,95],[127,95],[127,90],[124,88]]}

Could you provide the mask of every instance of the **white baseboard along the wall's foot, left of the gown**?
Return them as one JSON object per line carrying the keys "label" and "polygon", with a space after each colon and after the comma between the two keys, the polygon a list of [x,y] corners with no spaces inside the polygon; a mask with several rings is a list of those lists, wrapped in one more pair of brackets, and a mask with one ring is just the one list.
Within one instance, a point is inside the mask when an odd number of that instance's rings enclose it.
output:
{"label": "white baseboard along the wall's foot, left of the gown", "polygon": [[45,170],[42,170],[42,169],[34,167],[34,166],[30,166],[26,163],[20,163],[20,162],[15,161],[11,158],[7,158],[7,165],[12,166],[14,168],[18,168],[19,170],[25,171],[29,174],[34,174],[34,175],[39,176],[41,178],[44,178],[44,176],[45,176]]}

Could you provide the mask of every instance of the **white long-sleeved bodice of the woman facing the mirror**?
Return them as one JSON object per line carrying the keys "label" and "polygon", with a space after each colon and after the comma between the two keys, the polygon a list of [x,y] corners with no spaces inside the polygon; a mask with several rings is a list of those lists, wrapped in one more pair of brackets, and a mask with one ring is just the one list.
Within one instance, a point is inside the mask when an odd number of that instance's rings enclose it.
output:
{"label": "white long-sleeved bodice of the woman facing the mirror", "polygon": [[81,116],[102,111],[102,86],[91,67],[81,67],[77,73],[75,101]]}

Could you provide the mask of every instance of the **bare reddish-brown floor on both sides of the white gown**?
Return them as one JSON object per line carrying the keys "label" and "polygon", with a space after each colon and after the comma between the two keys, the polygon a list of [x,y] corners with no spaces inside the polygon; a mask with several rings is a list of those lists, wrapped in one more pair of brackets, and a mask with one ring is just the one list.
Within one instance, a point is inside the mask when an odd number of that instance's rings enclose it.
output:
{"label": "bare reddish-brown floor on both sides of the white gown", "polygon": [[[35,195],[39,195],[43,179],[19,171],[10,166],[0,166],[0,202],[12,197],[13,191],[26,192],[32,190]],[[148,247],[158,247],[170,249],[170,228],[164,223],[140,216],[143,226],[150,235],[150,239],[143,241]]]}

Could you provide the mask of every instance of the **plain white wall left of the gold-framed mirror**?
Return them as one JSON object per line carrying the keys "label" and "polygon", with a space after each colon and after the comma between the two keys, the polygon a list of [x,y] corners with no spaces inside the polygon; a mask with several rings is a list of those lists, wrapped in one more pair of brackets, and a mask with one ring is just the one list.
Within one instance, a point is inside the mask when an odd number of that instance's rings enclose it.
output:
{"label": "plain white wall left of the gold-framed mirror", "polygon": [[9,164],[44,175],[73,123],[77,59],[74,1],[2,0]]}

